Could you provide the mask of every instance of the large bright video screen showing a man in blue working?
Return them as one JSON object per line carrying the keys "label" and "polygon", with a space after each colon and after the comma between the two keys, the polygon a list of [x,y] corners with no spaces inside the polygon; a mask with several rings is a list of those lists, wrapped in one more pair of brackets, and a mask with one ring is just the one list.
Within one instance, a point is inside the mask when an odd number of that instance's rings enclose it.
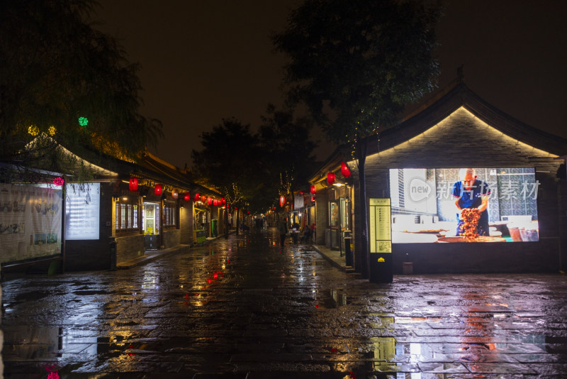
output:
{"label": "large bright video screen showing a man in blue working", "polygon": [[534,167],[389,172],[393,243],[539,241]]}

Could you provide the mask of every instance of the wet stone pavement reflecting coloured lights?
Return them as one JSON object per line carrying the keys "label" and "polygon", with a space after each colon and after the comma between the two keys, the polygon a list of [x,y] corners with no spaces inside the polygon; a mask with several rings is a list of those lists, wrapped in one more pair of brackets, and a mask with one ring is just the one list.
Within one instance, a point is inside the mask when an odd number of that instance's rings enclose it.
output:
{"label": "wet stone pavement reflecting coloured lights", "polygon": [[565,275],[372,284],[275,229],[2,292],[5,378],[567,378]]}

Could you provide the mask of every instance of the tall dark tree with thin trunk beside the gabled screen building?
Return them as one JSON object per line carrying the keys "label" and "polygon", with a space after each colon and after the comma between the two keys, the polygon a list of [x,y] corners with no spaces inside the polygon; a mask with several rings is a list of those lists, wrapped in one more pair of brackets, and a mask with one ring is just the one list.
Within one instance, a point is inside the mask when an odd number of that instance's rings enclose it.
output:
{"label": "tall dark tree with thin trunk beside the gabled screen building", "polygon": [[272,40],[285,53],[288,101],[303,102],[358,166],[361,270],[369,278],[367,137],[434,88],[437,6],[417,0],[305,0]]}

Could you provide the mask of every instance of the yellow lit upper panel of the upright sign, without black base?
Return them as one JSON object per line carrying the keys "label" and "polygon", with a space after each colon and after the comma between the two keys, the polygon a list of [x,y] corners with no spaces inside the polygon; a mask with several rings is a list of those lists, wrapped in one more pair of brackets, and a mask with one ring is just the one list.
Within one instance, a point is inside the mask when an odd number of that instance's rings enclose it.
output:
{"label": "yellow lit upper panel of the upright sign, without black base", "polygon": [[391,204],[390,199],[369,199],[370,252],[391,253]]}

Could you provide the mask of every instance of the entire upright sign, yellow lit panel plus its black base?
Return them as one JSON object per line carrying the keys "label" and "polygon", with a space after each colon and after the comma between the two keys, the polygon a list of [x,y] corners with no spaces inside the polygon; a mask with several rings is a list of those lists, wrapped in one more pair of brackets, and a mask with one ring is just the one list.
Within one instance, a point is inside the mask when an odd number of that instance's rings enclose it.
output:
{"label": "entire upright sign, yellow lit panel plus its black base", "polygon": [[392,231],[390,199],[369,199],[370,281],[391,282]]}

